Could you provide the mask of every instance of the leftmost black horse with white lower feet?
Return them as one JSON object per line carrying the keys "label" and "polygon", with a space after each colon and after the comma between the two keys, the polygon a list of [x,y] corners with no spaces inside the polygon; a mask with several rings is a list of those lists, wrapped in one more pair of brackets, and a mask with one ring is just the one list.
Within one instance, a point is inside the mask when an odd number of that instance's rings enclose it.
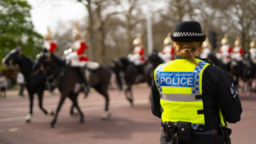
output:
{"label": "leftmost black horse with white lower feet", "polygon": [[28,90],[29,94],[29,102],[30,102],[30,111],[28,115],[25,117],[27,122],[30,121],[32,116],[32,107],[33,107],[33,98],[34,94],[38,95],[39,100],[39,108],[41,108],[44,114],[51,114],[53,112],[51,110],[45,110],[42,106],[43,103],[43,92],[45,88],[45,71],[39,70],[38,72],[33,72],[32,66],[34,64],[33,60],[28,58],[26,55],[23,54],[22,50],[19,48],[13,49],[10,51],[2,60],[3,64],[10,65],[10,64],[18,64],[20,67],[21,73],[25,77],[25,86]]}

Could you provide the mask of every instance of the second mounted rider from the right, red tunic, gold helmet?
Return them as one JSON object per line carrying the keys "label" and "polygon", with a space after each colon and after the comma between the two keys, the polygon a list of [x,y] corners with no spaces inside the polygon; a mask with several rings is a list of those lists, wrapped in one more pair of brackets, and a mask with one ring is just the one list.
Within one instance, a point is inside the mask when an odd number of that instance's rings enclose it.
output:
{"label": "second mounted rider from the right, red tunic, gold helmet", "polygon": [[235,41],[235,47],[233,48],[233,54],[231,56],[232,60],[235,60],[236,62],[242,62],[243,61],[243,47],[240,42],[239,36],[236,37]]}

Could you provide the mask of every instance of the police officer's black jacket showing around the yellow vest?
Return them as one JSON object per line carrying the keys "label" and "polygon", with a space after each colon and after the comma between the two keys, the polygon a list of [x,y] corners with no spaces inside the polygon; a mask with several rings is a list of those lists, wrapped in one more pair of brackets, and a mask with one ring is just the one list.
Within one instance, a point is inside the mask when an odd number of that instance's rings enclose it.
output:
{"label": "police officer's black jacket showing around the yellow vest", "polygon": [[[200,59],[198,57],[195,58]],[[182,57],[178,55],[175,57],[174,60],[176,59],[182,59]],[[206,61],[206,59],[200,60]],[[229,123],[236,123],[240,121],[242,106],[238,95],[236,95],[236,99],[234,99],[234,97],[232,96],[232,92],[230,91],[233,79],[229,73],[225,72],[220,67],[212,65],[212,63],[210,64],[211,65],[207,66],[203,71],[202,94],[211,95],[211,99],[203,99],[203,106],[204,109],[216,108],[216,112],[204,115],[205,124],[220,124],[218,105],[221,109],[222,115],[224,116],[225,120]],[[161,118],[162,112],[160,110],[160,95],[154,79],[152,82],[150,98],[151,110],[153,115]]]}

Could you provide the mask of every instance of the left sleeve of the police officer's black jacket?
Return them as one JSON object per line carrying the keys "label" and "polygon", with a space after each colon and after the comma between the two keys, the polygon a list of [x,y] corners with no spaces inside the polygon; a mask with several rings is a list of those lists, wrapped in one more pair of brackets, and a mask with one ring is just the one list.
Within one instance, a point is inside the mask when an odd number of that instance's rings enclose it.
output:
{"label": "left sleeve of the police officer's black jacket", "polygon": [[152,82],[152,85],[151,85],[150,100],[151,100],[151,110],[152,110],[153,115],[156,116],[156,117],[161,118],[162,117],[162,112],[160,110],[160,108],[161,108],[160,95],[159,95],[159,91],[157,90],[154,79],[153,79],[153,82]]}

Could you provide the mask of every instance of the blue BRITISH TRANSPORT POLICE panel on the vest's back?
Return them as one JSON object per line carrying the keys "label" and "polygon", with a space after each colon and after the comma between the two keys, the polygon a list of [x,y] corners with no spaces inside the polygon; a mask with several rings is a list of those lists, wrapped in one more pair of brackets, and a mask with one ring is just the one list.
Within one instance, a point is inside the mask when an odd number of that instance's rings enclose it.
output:
{"label": "blue BRITISH TRANSPORT POLICE panel on the vest's back", "polygon": [[195,87],[195,72],[160,72],[159,85],[165,87]]}

